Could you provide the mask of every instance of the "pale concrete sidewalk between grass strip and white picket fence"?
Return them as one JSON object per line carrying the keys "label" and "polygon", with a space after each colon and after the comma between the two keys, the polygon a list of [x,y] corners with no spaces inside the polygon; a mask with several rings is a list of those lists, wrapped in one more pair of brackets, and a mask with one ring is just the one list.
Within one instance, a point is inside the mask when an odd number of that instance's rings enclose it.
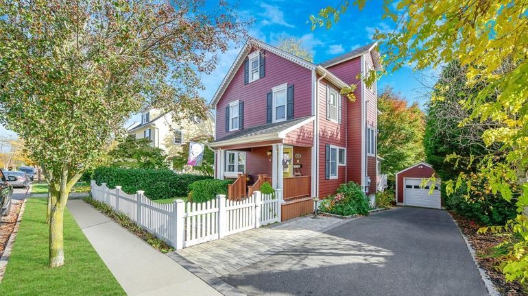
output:
{"label": "pale concrete sidewalk between grass strip and white picket fence", "polygon": [[221,295],[82,200],[68,208],[128,295]]}

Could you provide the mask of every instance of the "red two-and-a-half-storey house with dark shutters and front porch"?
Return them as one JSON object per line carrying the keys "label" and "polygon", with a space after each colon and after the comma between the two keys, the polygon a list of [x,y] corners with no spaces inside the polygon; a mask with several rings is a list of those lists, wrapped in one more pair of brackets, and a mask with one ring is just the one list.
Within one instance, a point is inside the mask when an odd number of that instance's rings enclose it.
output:
{"label": "red two-and-a-half-storey house with dark shutters and front porch", "polygon": [[[251,184],[266,174],[285,199],[324,198],[354,181],[372,198],[379,174],[376,83],[367,88],[358,75],[381,70],[376,43],[312,64],[252,42],[211,101],[215,177],[245,173]],[[351,84],[354,102],[340,94]]]}

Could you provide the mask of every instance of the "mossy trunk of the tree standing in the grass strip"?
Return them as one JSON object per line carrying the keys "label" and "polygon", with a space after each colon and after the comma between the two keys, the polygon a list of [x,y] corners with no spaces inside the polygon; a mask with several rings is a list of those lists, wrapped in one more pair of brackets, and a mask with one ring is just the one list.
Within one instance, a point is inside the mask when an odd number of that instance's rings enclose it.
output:
{"label": "mossy trunk of the tree standing in the grass strip", "polygon": [[64,265],[64,206],[60,197],[53,197],[49,219],[49,267]]}

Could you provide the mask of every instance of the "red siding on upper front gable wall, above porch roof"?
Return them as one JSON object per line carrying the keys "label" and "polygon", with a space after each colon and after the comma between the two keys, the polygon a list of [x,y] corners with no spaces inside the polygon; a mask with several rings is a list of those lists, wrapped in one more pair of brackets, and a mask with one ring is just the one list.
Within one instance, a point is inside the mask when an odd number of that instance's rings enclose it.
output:
{"label": "red siding on upper front gable wall, above porch roof", "polygon": [[244,102],[244,127],[266,123],[266,94],[272,87],[287,83],[295,85],[293,117],[311,115],[311,71],[266,51],[265,77],[244,84],[243,65],[237,70],[217,104],[216,137],[226,136],[226,106],[231,101]]}

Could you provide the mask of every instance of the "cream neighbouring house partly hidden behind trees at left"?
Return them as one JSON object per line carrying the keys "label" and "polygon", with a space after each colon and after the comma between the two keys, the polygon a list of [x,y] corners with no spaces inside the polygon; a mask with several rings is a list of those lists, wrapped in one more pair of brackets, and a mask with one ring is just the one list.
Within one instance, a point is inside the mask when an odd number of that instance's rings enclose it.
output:
{"label": "cream neighbouring house partly hidden behind trees at left", "polygon": [[152,146],[163,149],[167,156],[173,158],[181,151],[182,145],[197,136],[215,135],[215,118],[208,113],[204,121],[182,120],[176,123],[170,113],[158,109],[145,109],[141,112],[141,123],[133,123],[128,127],[128,134],[136,138],[149,138]]}

